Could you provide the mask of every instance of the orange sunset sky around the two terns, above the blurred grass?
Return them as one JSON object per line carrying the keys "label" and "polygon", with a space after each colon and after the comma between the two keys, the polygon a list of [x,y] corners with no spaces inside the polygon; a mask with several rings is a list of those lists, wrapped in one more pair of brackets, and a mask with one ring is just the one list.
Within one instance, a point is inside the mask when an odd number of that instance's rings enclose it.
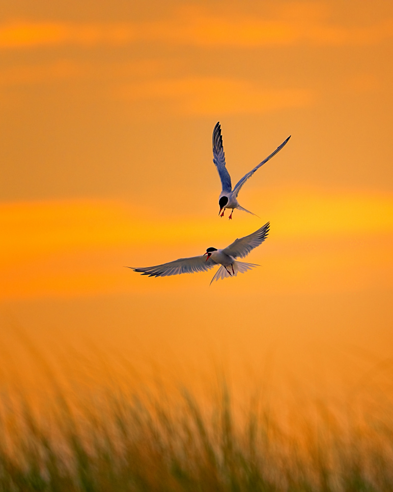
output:
{"label": "orange sunset sky around the two terns, above the blurred grass", "polygon": [[[2,343],[311,385],[393,357],[392,1],[6,1],[0,53]],[[218,121],[233,183],[291,135],[239,194],[260,218],[218,217]],[[268,220],[210,287],[124,268]]]}

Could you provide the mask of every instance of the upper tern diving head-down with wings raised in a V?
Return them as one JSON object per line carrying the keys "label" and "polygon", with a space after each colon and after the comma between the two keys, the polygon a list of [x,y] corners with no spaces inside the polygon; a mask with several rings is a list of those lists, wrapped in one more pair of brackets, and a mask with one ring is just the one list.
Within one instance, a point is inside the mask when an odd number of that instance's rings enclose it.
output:
{"label": "upper tern diving head-down with wings raised in a V", "polygon": [[[236,184],[236,186],[232,190],[232,183],[230,181],[230,176],[228,173],[228,170],[225,167],[225,154],[224,154],[224,148],[223,148],[223,137],[221,136],[221,126],[220,122],[216,124],[213,130],[213,162],[215,163],[217,167],[218,174],[220,176],[221,184],[223,186],[223,190],[220,193],[220,197],[218,200],[218,204],[220,206],[220,212],[218,215],[220,217],[224,217],[224,212],[225,209],[232,209],[231,214],[229,215],[229,218],[232,218],[233,210],[238,209],[238,210],[243,210],[244,212],[248,212],[249,214],[253,214],[253,212],[250,212],[249,210],[244,209],[239,205],[239,202],[237,201],[237,195],[239,194],[239,191],[243,184],[246,183],[246,181],[253,176],[254,172],[259,169],[265,162],[267,162],[269,159],[271,159],[273,156],[275,156],[278,152],[281,151],[282,147],[288,142],[288,140],[291,138],[289,137],[282,142],[282,144],[277,147],[277,149],[270,155],[266,157],[262,162],[260,162],[257,166],[255,166],[249,173],[243,176],[241,180]],[[224,210],[223,210],[224,209]],[[221,211],[223,213],[221,213]],[[257,215],[256,215],[257,216]]]}

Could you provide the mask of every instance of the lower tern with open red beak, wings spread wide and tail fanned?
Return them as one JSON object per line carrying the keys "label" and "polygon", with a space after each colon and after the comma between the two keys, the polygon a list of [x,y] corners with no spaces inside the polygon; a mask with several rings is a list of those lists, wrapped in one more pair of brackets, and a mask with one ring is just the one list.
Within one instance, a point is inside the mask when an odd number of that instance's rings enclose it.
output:
{"label": "lower tern with open red beak, wings spread wide and tail fanned", "polygon": [[[267,222],[263,227],[245,236],[244,238],[236,239],[232,244],[224,249],[208,247],[206,253],[200,256],[192,256],[191,258],[179,258],[175,261],[169,261],[162,265],[154,267],[127,267],[141,275],[149,277],[166,277],[168,275],[189,274],[194,272],[205,272],[216,265],[221,265],[217,270],[213,280],[224,279],[225,277],[236,277],[238,272],[244,273],[251,270],[253,267],[258,267],[253,263],[245,263],[237,261],[235,258],[244,258],[256,246],[260,246],[266,239],[270,227],[270,222]],[[207,258],[205,259],[205,255]]]}

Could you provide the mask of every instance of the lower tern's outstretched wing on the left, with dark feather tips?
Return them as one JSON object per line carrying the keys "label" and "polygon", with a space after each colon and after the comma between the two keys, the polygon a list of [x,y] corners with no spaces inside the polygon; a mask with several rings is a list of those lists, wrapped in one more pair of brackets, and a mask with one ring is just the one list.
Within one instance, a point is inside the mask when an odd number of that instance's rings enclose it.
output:
{"label": "lower tern's outstretched wing on the left, with dark feather tips", "polygon": [[194,272],[206,272],[213,268],[217,263],[209,258],[206,261],[206,256],[192,256],[191,258],[179,258],[175,261],[169,261],[155,267],[127,267],[142,275],[149,277],[167,277],[168,275],[192,274]]}

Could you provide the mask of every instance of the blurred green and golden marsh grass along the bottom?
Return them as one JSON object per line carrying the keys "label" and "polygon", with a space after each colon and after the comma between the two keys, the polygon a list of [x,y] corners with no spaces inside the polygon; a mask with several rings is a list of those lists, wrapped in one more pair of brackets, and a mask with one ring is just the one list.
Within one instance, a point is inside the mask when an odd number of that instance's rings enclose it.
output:
{"label": "blurred green and golden marsh grass along the bottom", "polygon": [[0,491],[393,490],[386,395],[279,408],[235,400],[225,378],[209,397],[160,380],[137,389],[107,361],[105,383],[77,384],[32,350],[39,401],[23,378],[0,394]]}

